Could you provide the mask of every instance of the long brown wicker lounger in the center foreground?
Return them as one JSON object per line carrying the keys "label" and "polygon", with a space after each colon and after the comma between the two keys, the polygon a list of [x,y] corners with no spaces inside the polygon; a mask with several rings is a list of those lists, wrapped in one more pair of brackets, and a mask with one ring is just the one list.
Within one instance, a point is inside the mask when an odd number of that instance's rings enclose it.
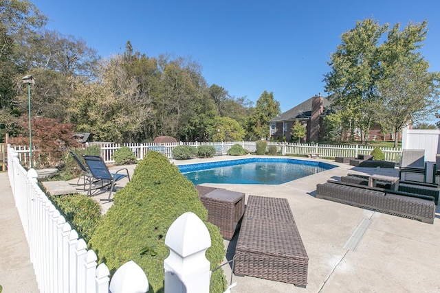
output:
{"label": "long brown wicker lounger in the center foreground", "polygon": [[309,257],[287,199],[249,196],[235,257],[235,274],[307,285]]}

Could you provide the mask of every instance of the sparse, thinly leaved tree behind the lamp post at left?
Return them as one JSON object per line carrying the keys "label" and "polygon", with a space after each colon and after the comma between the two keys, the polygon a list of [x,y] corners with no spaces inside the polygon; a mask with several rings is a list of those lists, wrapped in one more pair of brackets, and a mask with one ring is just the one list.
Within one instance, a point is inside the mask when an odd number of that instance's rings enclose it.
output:
{"label": "sparse, thinly leaved tree behind the lamp post at left", "polygon": [[[99,57],[83,40],[54,31],[34,34],[20,47],[21,67],[32,73],[36,84],[32,93],[32,115],[67,119],[66,105],[74,98],[80,82],[91,82],[96,76]],[[19,111],[28,107],[28,91],[20,86]]]}

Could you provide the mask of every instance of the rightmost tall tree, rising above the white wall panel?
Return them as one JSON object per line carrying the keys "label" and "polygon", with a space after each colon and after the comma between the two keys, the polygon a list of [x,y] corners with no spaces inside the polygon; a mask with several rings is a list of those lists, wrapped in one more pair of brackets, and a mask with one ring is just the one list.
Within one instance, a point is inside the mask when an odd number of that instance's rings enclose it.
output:
{"label": "rightmost tall tree, rising above the white wall panel", "polygon": [[426,21],[409,23],[404,30],[395,25],[381,47],[384,76],[377,83],[382,97],[382,125],[391,130],[397,148],[398,133],[408,123],[426,119],[439,108],[439,73],[428,72],[419,47],[426,38]]}

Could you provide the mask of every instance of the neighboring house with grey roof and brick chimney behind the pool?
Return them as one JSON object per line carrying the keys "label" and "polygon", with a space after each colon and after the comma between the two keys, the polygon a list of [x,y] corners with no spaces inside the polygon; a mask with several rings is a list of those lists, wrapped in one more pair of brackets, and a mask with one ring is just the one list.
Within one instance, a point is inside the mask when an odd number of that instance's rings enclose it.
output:
{"label": "neighboring house with grey roof and brick chimney behind the pool", "polygon": [[291,141],[290,130],[294,122],[298,120],[306,127],[305,139],[300,142],[321,141],[324,137],[322,120],[325,115],[331,113],[330,105],[331,102],[321,94],[307,99],[278,117],[270,119],[270,137],[274,140],[279,139],[279,141],[283,141],[285,137],[286,141]]}

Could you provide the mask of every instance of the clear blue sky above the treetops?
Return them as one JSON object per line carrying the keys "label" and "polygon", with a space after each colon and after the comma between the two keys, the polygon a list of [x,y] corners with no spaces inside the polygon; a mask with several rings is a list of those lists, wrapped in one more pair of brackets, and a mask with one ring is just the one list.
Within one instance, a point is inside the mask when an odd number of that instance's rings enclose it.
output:
{"label": "clear blue sky above the treetops", "polygon": [[127,40],[149,57],[190,57],[208,84],[256,102],[273,92],[284,112],[315,94],[343,32],[357,20],[428,21],[421,54],[440,71],[440,1],[30,0],[49,30],[82,38],[102,57]]}

